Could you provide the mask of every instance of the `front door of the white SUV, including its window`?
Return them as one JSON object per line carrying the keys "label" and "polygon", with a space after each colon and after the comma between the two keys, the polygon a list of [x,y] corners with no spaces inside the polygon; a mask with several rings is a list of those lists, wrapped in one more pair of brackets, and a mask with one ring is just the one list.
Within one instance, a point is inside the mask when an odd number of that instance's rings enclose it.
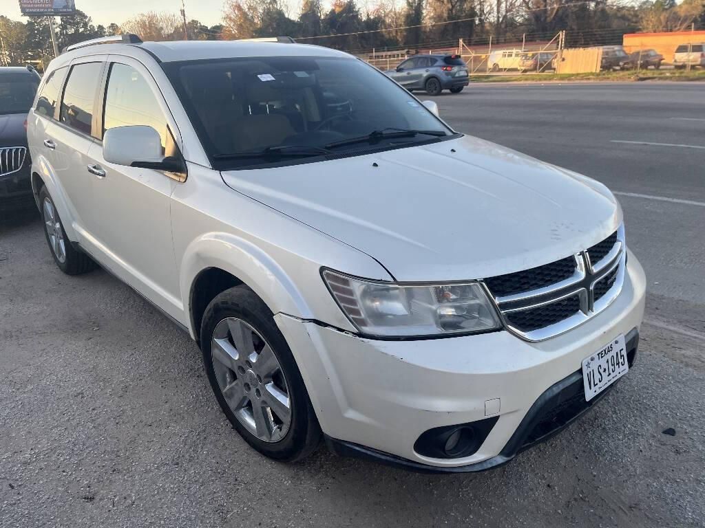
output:
{"label": "front door of the white SUV, including its window", "polygon": [[[114,127],[148,125],[159,132],[162,147],[175,149],[178,131],[161,92],[144,65],[110,56],[101,94],[102,133]],[[101,134],[102,137],[102,134]],[[92,172],[97,258],[133,288],[174,318],[183,315],[171,237],[171,194],[185,175],[108,163],[102,142],[88,151]]]}

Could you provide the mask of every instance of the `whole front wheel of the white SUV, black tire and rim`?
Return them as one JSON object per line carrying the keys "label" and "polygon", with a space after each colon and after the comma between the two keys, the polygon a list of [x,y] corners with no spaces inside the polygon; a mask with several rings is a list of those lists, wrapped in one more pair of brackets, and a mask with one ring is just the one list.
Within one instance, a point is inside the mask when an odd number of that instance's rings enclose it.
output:
{"label": "whole front wheel of the white SUV, black tire and rim", "polygon": [[321,429],[301,373],[254,291],[237,286],[216,296],[203,316],[200,345],[216,400],[247,444],[282,462],[316,450]]}

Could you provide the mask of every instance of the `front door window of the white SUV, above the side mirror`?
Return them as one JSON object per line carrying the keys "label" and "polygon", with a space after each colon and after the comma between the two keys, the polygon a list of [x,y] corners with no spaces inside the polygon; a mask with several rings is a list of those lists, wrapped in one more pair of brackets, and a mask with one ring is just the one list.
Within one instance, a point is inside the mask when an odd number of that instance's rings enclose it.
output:
{"label": "front door window of the white SUV, above the side mirror", "polygon": [[159,132],[161,148],[166,149],[166,118],[145,77],[132,66],[113,63],[108,77],[103,114],[103,132],[115,127],[147,125]]}

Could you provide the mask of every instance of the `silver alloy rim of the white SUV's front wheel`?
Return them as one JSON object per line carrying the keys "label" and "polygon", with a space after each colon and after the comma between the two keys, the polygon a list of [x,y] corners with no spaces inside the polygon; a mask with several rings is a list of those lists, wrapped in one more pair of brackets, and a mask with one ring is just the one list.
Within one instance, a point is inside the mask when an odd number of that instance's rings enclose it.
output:
{"label": "silver alloy rim of the white SUV's front wheel", "polygon": [[291,425],[288,384],[262,335],[241,319],[223,319],[213,332],[211,356],[221,394],[238,422],[259,440],[283,439]]}

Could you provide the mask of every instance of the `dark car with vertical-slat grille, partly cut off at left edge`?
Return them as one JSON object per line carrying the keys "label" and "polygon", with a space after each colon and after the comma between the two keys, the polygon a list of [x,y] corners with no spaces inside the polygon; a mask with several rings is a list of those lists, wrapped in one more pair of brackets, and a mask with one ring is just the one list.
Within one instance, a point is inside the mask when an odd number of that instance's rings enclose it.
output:
{"label": "dark car with vertical-slat grille, partly cut off at left edge", "polygon": [[39,80],[31,68],[0,68],[0,210],[34,205],[25,120]]}

